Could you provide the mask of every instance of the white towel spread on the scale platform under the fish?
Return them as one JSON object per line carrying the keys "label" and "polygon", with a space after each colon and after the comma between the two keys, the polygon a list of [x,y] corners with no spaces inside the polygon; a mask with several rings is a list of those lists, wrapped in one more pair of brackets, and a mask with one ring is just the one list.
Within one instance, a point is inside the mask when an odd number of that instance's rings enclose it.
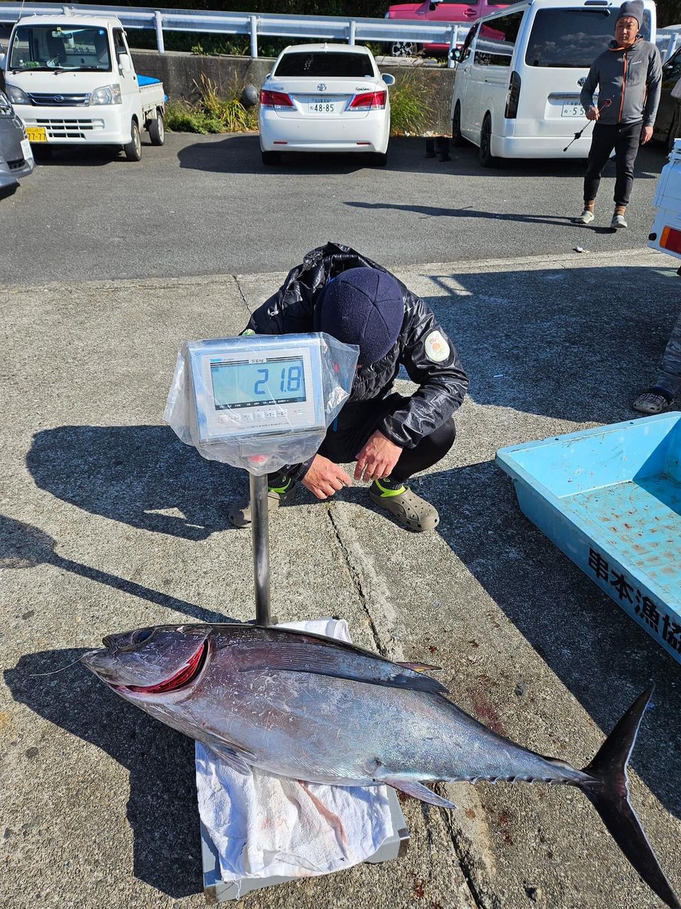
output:
{"label": "white towel spread on the scale platform under the fish", "polygon": [[[350,641],[342,619],[281,627]],[[223,881],[329,874],[370,858],[395,834],[385,786],[301,784],[256,768],[246,777],[198,742],[196,787]]]}

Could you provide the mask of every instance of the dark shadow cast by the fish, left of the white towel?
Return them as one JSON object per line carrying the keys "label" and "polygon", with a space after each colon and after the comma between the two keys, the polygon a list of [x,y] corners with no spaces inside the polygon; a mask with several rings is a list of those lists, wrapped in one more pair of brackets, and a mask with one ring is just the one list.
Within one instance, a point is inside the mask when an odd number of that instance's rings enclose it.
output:
{"label": "dark shadow cast by the fish, left of the white towel", "polygon": [[[63,669],[84,653],[26,654],[15,668],[5,670],[5,683],[15,701],[95,744],[130,771],[127,818],[134,836],[135,876],[173,897],[199,893],[194,744],[126,704],[82,665],[67,670],[68,684],[54,684],[54,675],[35,677]],[[74,710],[74,704],[84,709]],[[105,871],[115,874],[114,868]]]}

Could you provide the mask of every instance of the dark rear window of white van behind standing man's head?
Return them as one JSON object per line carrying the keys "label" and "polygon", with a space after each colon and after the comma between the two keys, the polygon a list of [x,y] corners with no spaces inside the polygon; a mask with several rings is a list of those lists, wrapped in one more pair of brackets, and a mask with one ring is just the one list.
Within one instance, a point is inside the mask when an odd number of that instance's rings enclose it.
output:
{"label": "dark rear window of white van behind standing man's head", "polygon": [[[608,9],[540,9],[529,35],[528,66],[589,67],[613,39],[615,19]],[[650,37],[650,13],[641,34]]]}

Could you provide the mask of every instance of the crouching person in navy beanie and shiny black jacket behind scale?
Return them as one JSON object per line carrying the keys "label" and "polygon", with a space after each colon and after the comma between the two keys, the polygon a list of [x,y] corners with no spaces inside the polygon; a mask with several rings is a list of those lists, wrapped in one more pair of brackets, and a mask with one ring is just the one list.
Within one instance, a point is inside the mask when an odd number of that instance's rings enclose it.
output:
{"label": "crouching person in navy beanie and shiny black jacket behind scale", "polygon": [[[269,476],[269,507],[286,501],[296,481],[318,499],[336,494],[352,484],[340,464],[356,461],[354,477],[371,482],[375,504],[410,530],[436,527],[437,509],[407,481],[449,452],[456,435],[452,414],[469,382],[429,307],[380,265],[349,246],[328,243],[291,270],[255,310],[246,331],[326,332],[360,348],[341,413],[308,462]],[[400,365],[419,386],[410,397],[392,391]],[[250,503],[232,504],[229,517],[235,526],[247,526]]]}

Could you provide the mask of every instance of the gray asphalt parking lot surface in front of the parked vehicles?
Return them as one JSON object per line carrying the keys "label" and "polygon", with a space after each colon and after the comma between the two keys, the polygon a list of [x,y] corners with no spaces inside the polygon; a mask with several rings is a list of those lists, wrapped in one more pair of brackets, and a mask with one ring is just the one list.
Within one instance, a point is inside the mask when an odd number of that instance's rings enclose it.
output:
{"label": "gray asphalt parking lot surface in front of the parked vehicles", "polygon": [[109,149],[59,150],[0,195],[0,281],[38,284],[288,270],[333,239],[388,266],[593,252],[646,244],[662,147],[642,149],[629,230],[607,229],[613,165],[596,225],[576,227],[584,164],[479,167],[477,149],[425,157],[394,139],[385,169],[359,156],[261,163],[257,135],[167,135],[131,164]]}

